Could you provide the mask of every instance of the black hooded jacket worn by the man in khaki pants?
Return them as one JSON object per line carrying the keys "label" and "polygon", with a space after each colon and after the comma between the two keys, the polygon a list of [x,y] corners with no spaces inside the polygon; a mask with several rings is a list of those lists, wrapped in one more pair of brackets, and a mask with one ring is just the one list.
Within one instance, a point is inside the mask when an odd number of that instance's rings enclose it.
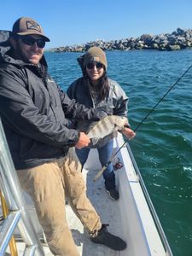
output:
{"label": "black hooded jacket worn by the man in khaki pants", "polygon": [[68,119],[100,119],[96,109],[70,100],[47,69],[44,56],[39,65],[15,59],[9,32],[0,31],[0,116],[16,169],[67,154],[79,141]]}

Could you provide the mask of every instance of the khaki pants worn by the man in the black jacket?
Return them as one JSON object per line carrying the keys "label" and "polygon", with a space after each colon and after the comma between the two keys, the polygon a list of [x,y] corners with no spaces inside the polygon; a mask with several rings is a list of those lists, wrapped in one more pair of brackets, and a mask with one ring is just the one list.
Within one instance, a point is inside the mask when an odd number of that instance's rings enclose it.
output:
{"label": "khaki pants worn by the man in the black jacket", "polygon": [[81,166],[74,149],[66,157],[26,170],[17,170],[21,188],[32,196],[50,251],[55,255],[78,256],[67,225],[65,195],[84,228],[94,236],[102,227],[100,217],[86,197]]}

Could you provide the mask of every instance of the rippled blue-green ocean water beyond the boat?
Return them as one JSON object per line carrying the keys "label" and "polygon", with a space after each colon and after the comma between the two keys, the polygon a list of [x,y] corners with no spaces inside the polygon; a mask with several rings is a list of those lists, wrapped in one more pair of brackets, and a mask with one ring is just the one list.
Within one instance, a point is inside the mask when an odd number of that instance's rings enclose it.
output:
{"label": "rippled blue-green ocean water beyond the boat", "polygon": [[[46,52],[67,90],[81,76],[79,53]],[[132,129],[192,64],[192,49],[107,52],[108,76],[129,96]],[[192,255],[192,68],[137,130],[131,150],[175,256]]]}

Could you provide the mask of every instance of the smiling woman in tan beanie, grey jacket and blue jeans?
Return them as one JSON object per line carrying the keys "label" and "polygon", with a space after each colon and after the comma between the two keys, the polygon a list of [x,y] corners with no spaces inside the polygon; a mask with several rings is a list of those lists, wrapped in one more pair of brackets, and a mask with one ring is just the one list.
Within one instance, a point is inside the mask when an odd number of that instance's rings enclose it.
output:
{"label": "smiling woman in tan beanie, grey jacket and blue jeans", "polygon": [[[117,82],[108,79],[108,63],[104,51],[99,47],[91,47],[84,55],[78,58],[78,61],[83,77],[75,80],[69,86],[67,90],[68,96],[79,103],[83,103],[88,108],[100,109],[107,115],[114,114],[126,117],[128,97]],[[87,131],[89,125],[79,122],[76,128],[79,128],[80,131]],[[123,134],[130,139],[135,136],[135,132],[129,128],[125,128]],[[105,166],[113,152],[113,139],[109,140],[104,146],[97,148],[97,150],[99,160],[102,166]],[[89,152],[90,148],[76,149],[82,166],[84,166]],[[119,192],[115,186],[112,164],[108,165],[103,172],[103,177],[109,197],[114,201],[118,200]]]}

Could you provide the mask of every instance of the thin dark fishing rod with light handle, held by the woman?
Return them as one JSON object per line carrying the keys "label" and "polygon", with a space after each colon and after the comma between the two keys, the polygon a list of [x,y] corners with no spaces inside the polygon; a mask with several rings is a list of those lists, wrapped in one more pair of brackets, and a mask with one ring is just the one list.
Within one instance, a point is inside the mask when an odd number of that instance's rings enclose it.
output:
{"label": "thin dark fishing rod with light handle, held by the woman", "polygon": [[[146,114],[146,116],[142,119],[142,121],[141,121],[141,122],[137,125],[137,127],[133,130],[134,132],[136,132],[136,131],[138,130],[138,128],[143,124],[143,122],[148,118],[148,116],[154,111],[154,109],[157,108],[157,106],[160,104],[160,102],[163,101],[163,99],[164,99],[164,98],[167,96],[167,94],[173,89],[173,87],[174,87],[181,79],[183,79],[183,76],[184,76],[186,73],[189,72],[189,69],[190,69],[191,67],[192,67],[192,65],[190,65],[190,66],[188,67],[188,69],[177,79],[177,81],[176,81],[174,84],[172,84],[172,86],[169,88],[169,90],[166,91],[165,95],[162,96],[162,97],[160,98],[159,102],[157,102],[157,103],[154,105],[154,108],[151,108],[151,109],[148,111],[148,113]],[[124,147],[125,147],[125,144],[126,144],[126,143],[127,143],[127,142],[123,143],[123,144],[119,147],[119,149],[112,155],[111,160],[109,160],[108,163],[107,163],[105,166],[102,167],[102,170],[99,171],[99,172],[96,174],[96,177],[93,178],[94,181],[96,181],[96,179],[102,175],[102,172],[104,172],[104,171],[108,168],[108,166],[111,164],[111,162],[112,162],[112,160],[113,160],[113,157],[114,157],[116,154],[119,153],[119,151],[120,151],[121,148],[124,148]]]}

